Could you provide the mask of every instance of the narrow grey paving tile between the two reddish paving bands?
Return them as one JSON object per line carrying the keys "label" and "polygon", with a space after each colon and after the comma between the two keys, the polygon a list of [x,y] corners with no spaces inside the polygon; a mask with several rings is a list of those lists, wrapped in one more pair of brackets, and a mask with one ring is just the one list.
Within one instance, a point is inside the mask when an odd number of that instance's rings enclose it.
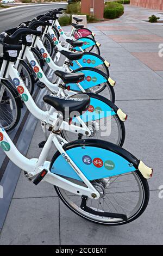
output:
{"label": "narrow grey paving tile between the two reddish paving bands", "polygon": [[120,45],[129,52],[159,52],[160,42],[122,42]]}

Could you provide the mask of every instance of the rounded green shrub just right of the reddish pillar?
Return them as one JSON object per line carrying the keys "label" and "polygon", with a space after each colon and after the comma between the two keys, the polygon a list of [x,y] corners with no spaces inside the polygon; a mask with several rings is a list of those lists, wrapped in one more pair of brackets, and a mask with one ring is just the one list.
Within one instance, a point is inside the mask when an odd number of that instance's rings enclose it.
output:
{"label": "rounded green shrub just right of the reddish pillar", "polygon": [[116,2],[109,2],[104,8],[105,19],[116,19],[124,13],[123,5]]}

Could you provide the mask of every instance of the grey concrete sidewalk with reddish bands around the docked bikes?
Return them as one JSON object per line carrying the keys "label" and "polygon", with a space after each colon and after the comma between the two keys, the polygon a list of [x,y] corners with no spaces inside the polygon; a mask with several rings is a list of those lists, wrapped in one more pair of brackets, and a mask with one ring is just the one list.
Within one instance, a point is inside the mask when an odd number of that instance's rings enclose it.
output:
{"label": "grey concrete sidewalk with reddish bands around the docked bikes", "polygon": [[[93,224],[66,208],[52,185],[41,183],[36,187],[21,173],[0,245],[162,245],[163,199],[159,198],[159,186],[163,185],[163,57],[158,52],[163,44],[163,27],[143,21],[151,14],[161,17],[159,13],[125,5],[119,19],[88,26],[102,44],[101,56],[111,63],[116,105],[128,114],[124,148],[154,168],[145,213],[119,227]],[[39,155],[37,144],[42,139],[38,123],[28,157]]]}

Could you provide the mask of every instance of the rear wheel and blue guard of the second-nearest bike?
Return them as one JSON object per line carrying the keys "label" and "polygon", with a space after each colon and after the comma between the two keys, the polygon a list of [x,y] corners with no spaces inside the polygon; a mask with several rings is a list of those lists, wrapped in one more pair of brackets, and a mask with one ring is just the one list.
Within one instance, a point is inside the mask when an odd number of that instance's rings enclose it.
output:
{"label": "rear wheel and blue guard of the second-nearest bike", "polygon": [[[114,112],[115,114],[113,115],[111,113],[113,109],[115,110],[118,108],[114,103],[101,95],[92,93],[87,93],[87,95],[90,96],[91,102],[89,110],[85,114],[89,115],[91,113],[92,119],[86,121],[85,124],[91,131],[90,138],[102,139],[103,141],[108,141],[122,147],[126,135],[124,122],[120,120],[116,112]],[[101,115],[101,113],[104,113],[104,115]],[[95,115],[96,118],[93,117],[93,115]],[[72,120],[72,124],[79,125],[79,123],[76,123],[76,120]],[[62,130],[61,134],[68,142],[79,138],[78,133],[76,134],[70,131]],[[82,136],[82,139],[86,138],[88,137],[84,135]]]}

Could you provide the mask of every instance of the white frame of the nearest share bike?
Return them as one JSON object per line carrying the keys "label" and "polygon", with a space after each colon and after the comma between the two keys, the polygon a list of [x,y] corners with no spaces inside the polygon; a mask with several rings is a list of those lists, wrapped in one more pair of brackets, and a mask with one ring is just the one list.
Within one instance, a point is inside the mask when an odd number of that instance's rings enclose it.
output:
{"label": "white frame of the nearest share bike", "polygon": [[[57,118],[53,121],[53,131],[55,129],[58,130],[58,123],[59,126],[62,123],[62,120],[60,118]],[[44,145],[41,154],[39,156],[39,159],[27,159],[27,157],[23,156],[20,151],[17,150],[14,143],[12,143],[10,137],[3,129],[2,125],[0,124],[0,131],[2,136],[1,143],[4,145],[8,145],[8,149],[4,149],[5,154],[9,157],[9,159],[16,164],[19,168],[26,171],[26,177],[30,181],[33,181],[39,173],[42,172],[43,169],[47,170],[47,174],[43,178],[42,181],[47,181],[50,184],[53,184],[54,186],[58,186],[64,190],[67,190],[71,193],[78,194],[79,196],[85,195],[89,198],[99,198],[98,191],[92,186],[89,180],[85,177],[85,175],[82,173],[82,171],[76,166],[76,164],[73,162],[73,160],[68,156],[66,151],[62,148],[62,145],[59,143],[59,141],[64,141],[60,136],[56,135],[55,133],[51,132],[49,135],[46,144]],[[50,162],[46,161],[47,155],[49,151],[52,149],[52,144],[54,143],[55,147],[59,150],[60,154],[67,157],[67,162],[70,164],[70,166],[73,168],[74,172],[76,172],[80,179],[83,180],[85,185],[87,187],[83,187],[77,184],[74,184],[70,180],[66,180],[62,178],[61,176],[58,176],[54,173],[51,173],[49,170]],[[66,160],[65,160],[66,161]]]}

